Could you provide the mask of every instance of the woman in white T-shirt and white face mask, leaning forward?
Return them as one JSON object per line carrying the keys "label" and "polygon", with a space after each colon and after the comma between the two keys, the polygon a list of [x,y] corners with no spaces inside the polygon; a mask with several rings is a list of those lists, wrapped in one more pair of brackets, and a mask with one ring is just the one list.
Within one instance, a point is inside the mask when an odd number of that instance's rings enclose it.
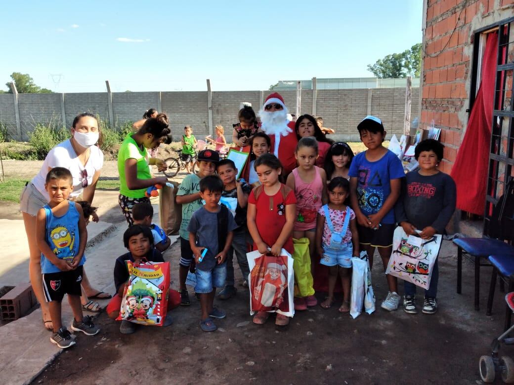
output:
{"label": "woman in white T-shirt and white face mask, leaning forward", "polygon": [[[73,177],[73,191],[70,199],[76,199],[82,194],[82,199],[93,203],[95,188],[103,165],[103,153],[97,144],[101,143],[101,132],[95,115],[84,112],[75,117],[71,138],[53,147],[45,158],[43,166],[22,191],[20,197],[23,222],[27,232],[30,251],[29,275],[30,282],[36,298],[41,304],[43,323],[46,329],[52,330],[52,322],[48,310],[48,303],[43,293],[43,281],[41,276],[41,251],[35,241],[35,222],[38,210],[48,203],[48,192],[45,190],[45,179],[48,171],[53,167],[65,167],[70,170]],[[98,222],[98,216],[93,220]],[[83,310],[98,313],[98,303],[90,299],[111,298],[107,293],[91,287],[84,271],[82,277],[82,305]],[[87,296],[87,297],[86,297]]]}

